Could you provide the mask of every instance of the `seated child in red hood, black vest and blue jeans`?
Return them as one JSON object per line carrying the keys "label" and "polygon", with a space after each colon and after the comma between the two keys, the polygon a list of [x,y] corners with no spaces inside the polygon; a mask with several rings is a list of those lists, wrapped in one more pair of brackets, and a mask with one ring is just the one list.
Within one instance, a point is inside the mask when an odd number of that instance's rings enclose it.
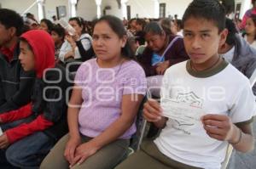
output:
{"label": "seated child in red hood, black vest and blue jeans", "polygon": [[[37,168],[55,142],[67,132],[65,70],[55,65],[55,45],[45,31],[20,37],[20,63],[35,70],[32,103],[0,115],[1,168]],[[67,99],[68,100],[68,99]]]}

